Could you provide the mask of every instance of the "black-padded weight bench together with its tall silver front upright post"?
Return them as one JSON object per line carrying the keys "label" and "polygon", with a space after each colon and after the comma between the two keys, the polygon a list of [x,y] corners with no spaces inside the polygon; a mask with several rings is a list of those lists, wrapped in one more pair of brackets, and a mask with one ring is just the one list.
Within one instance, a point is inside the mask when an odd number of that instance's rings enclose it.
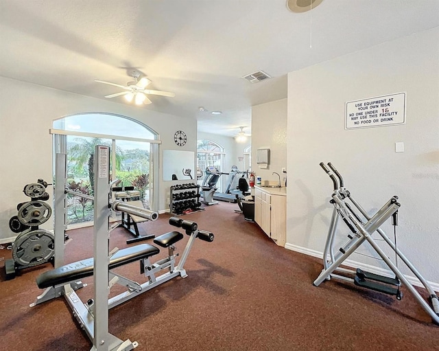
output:
{"label": "black-padded weight bench together with its tall silver front upright post", "polygon": [[[115,211],[129,211],[137,216],[145,216],[145,213],[142,211],[144,209],[137,211],[133,208],[134,206],[126,207],[126,204],[121,201],[115,201],[111,206],[109,205],[108,165],[110,162],[108,146],[96,146],[95,155],[97,157],[95,157],[94,165],[94,257],[57,267],[38,276],[36,280],[38,287],[45,288],[45,291],[30,306],[33,307],[64,295],[73,310],[73,315],[93,342],[91,351],[129,351],[136,348],[138,343],[129,339],[122,341],[108,332],[109,308],[122,304],[177,276],[186,278],[184,264],[195,238],[211,242],[213,234],[198,229],[197,223],[171,217],[169,224],[185,229],[186,234],[190,236],[178,264],[176,264],[178,254],[174,253],[176,249],[174,244],[184,237],[179,231],[171,231],[154,239],[156,245],[168,249],[168,256],[154,263],[150,262],[150,258],[160,251],[154,245],[141,244],[121,250],[115,248],[109,252],[109,233],[119,225],[117,223],[113,227],[109,226],[109,208],[111,207]],[[112,271],[112,269],[137,260],[141,262],[141,274],[147,278],[147,281],[142,284]],[[167,272],[158,275],[158,272],[162,270]],[[95,288],[94,298],[83,303],[75,291],[86,286],[80,280],[91,275],[93,275]],[[125,286],[126,291],[110,299],[102,298],[109,296],[110,288],[115,284]]]}

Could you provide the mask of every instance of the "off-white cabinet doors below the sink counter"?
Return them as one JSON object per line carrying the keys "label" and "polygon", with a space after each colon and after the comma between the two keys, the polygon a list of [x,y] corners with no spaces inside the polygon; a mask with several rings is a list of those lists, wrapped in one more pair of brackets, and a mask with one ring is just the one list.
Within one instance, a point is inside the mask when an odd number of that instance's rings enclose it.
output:
{"label": "off-white cabinet doors below the sink counter", "polygon": [[286,242],[286,207],[285,189],[261,190],[254,188],[254,221],[279,246]]}

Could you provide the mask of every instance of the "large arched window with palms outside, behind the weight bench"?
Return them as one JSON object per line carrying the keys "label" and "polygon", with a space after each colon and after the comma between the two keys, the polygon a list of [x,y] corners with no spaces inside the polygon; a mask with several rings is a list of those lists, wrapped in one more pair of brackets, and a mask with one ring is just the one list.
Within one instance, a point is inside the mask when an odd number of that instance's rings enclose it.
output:
{"label": "large arched window with palms outside, behind the weight bench", "polygon": [[[93,192],[93,153],[95,145],[110,146],[110,179],[119,186],[134,186],[141,191],[145,208],[157,210],[158,133],[141,122],[109,113],[79,113],[53,122],[54,152],[67,154],[67,187]],[[69,199],[68,223],[93,219],[93,203]]]}

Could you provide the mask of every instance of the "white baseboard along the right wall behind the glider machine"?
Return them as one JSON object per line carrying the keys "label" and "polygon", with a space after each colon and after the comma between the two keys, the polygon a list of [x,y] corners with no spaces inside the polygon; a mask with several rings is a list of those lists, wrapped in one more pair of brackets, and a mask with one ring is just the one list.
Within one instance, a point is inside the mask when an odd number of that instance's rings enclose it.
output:
{"label": "white baseboard along the right wall behind the glider machine", "polygon": [[[311,249],[307,249],[306,247],[300,247],[297,245],[289,244],[289,242],[287,242],[285,244],[285,249],[289,249],[289,250],[300,252],[300,253],[305,253],[305,255],[313,256],[313,257],[317,257],[317,258],[323,257],[323,253],[320,251],[311,250]],[[355,268],[364,269],[364,271],[383,275],[385,277],[390,277],[390,278],[394,277],[394,273],[392,271],[390,271],[389,269],[382,269],[379,267],[371,266],[370,264],[364,264],[364,263],[360,263],[360,262],[353,261],[353,260],[345,260],[343,262],[343,265],[354,268],[354,269]],[[412,284],[414,286],[419,286],[420,288],[424,288],[423,284],[418,280],[418,278],[416,278],[412,275],[405,275],[405,278],[407,278],[407,280],[410,282],[410,284]],[[431,286],[431,288],[434,291],[439,291],[439,283],[429,282],[428,280],[427,280],[427,283]]]}

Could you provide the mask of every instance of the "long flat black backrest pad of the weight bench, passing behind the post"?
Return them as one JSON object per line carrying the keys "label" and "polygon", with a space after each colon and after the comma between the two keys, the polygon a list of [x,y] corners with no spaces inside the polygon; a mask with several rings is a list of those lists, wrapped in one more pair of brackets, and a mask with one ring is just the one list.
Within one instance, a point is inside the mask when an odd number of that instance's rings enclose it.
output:
{"label": "long flat black backrest pad of the weight bench, passing behind the post", "polygon": [[[121,249],[111,257],[108,269],[115,269],[116,267],[123,266],[123,264],[154,256],[159,252],[158,247],[150,244],[141,244]],[[38,275],[36,284],[38,288],[49,288],[49,286],[66,284],[89,277],[93,275],[93,261],[93,258],[87,258],[86,260],[69,263],[65,266],[47,271]]]}

